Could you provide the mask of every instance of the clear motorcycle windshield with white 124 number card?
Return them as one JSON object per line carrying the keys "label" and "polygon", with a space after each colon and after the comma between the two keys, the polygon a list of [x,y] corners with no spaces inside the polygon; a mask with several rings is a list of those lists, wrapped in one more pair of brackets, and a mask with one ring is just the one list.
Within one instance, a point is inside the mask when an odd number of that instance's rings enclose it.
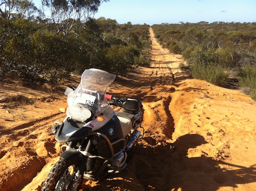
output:
{"label": "clear motorcycle windshield with white 124 number card", "polygon": [[107,106],[105,94],[116,76],[100,69],[86,69],[75,91],[68,94],[68,105],[79,104],[97,114]]}

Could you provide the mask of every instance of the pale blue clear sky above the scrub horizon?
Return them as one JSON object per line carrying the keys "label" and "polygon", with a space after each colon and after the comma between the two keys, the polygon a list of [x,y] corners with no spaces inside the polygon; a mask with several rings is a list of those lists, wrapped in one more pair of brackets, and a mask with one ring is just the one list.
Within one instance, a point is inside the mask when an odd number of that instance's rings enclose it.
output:
{"label": "pale blue clear sky above the scrub horizon", "polygon": [[94,18],[119,24],[256,22],[256,0],[110,0]]}

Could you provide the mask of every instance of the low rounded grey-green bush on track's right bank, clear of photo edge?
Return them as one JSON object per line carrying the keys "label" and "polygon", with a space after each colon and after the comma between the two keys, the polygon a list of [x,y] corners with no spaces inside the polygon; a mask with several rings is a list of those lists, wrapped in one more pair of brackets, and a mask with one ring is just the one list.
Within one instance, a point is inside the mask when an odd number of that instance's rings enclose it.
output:
{"label": "low rounded grey-green bush on track's right bank, clear of photo edge", "polygon": [[203,79],[217,86],[225,86],[227,84],[228,74],[218,64],[205,65],[203,63],[196,64],[191,68],[192,77]]}

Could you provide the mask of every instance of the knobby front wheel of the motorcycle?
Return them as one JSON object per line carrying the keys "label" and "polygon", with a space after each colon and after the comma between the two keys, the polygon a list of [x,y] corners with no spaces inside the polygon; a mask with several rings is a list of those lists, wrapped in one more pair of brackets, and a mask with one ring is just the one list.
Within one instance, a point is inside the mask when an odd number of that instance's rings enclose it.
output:
{"label": "knobby front wheel of the motorcycle", "polygon": [[79,190],[83,172],[80,172],[78,167],[79,163],[76,160],[59,159],[48,174],[41,191]]}

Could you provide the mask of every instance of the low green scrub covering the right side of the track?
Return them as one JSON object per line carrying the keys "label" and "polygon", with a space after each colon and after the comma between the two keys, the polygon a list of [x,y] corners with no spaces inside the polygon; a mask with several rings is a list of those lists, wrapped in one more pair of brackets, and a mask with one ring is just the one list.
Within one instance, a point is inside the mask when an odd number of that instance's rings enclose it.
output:
{"label": "low green scrub covering the right side of the track", "polygon": [[256,23],[199,22],[155,24],[157,39],[171,53],[183,54],[192,76],[227,87],[228,77],[256,99]]}

